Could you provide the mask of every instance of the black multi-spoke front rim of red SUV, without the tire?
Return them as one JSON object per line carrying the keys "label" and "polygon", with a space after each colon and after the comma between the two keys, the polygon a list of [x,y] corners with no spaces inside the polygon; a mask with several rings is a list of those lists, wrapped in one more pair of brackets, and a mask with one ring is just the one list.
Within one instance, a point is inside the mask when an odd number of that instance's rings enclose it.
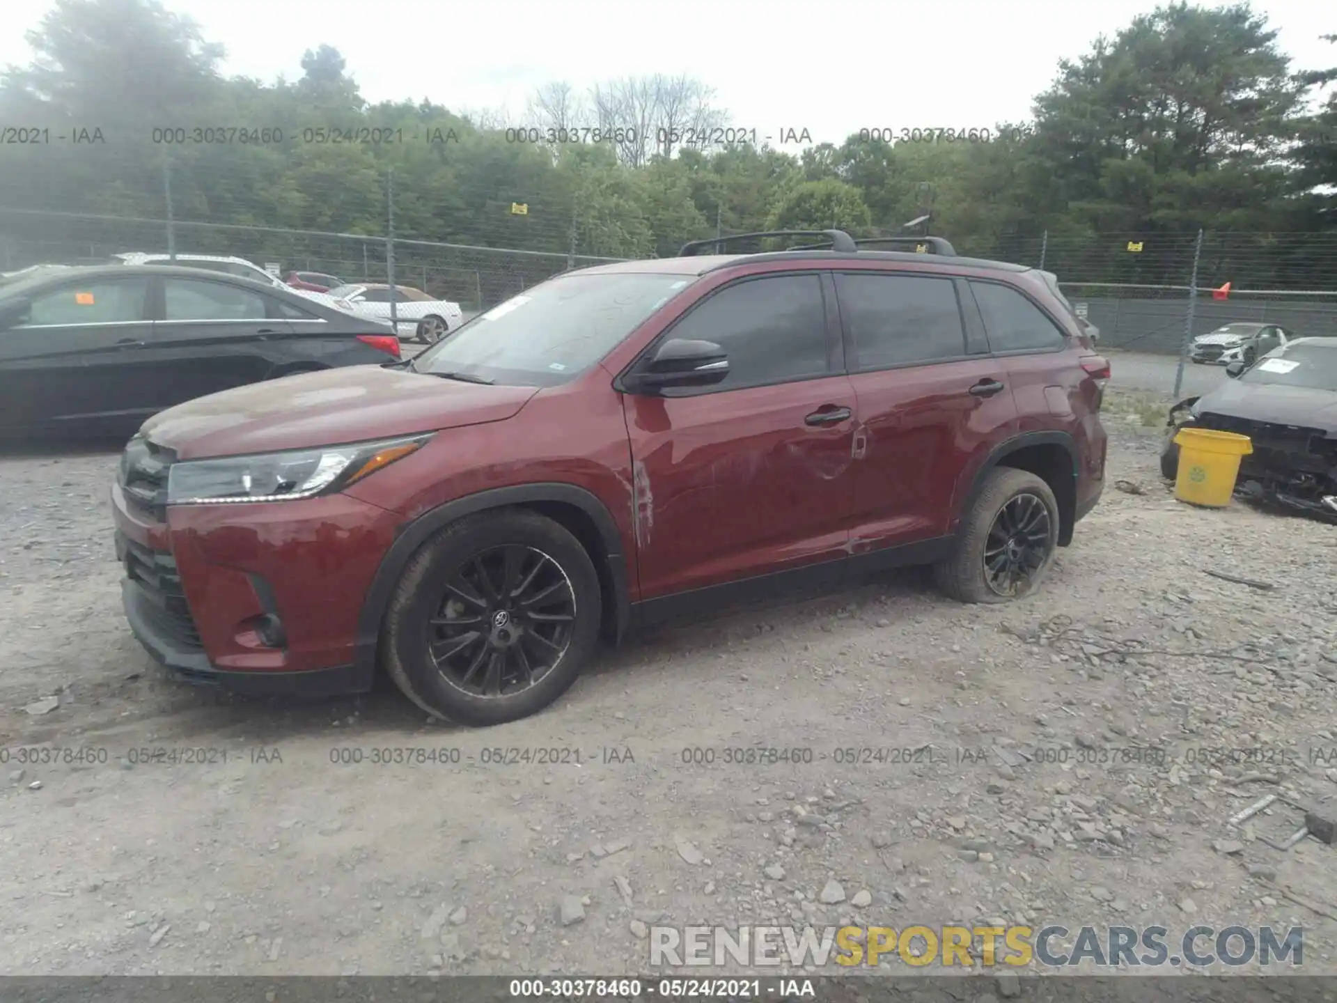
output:
{"label": "black multi-spoke front rim of red SUV, without the tire", "polygon": [[576,599],[562,566],[520,544],[464,560],[428,626],[441,677],[475,697],[511,697],[539,682],[571,645]]}

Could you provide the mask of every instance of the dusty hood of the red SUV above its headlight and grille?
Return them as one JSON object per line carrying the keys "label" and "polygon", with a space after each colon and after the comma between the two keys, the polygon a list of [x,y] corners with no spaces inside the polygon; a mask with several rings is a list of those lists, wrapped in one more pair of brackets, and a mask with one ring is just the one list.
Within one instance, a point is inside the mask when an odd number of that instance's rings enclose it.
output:
{"label": "dusty hood of the red SUV above its headlight and grille", "polygon": [[140,432],[182,460],[238,456],[504,421],[537,392],[356,365],[211,393]]}

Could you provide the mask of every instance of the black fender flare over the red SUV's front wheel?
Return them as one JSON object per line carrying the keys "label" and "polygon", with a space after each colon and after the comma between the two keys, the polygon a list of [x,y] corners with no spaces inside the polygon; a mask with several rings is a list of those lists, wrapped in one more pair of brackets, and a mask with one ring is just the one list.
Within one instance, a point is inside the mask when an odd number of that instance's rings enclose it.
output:
{"label": "black fender flare over the red SUV's front wheel", "polygon": [[[575,506],[590,516],[595,530],[599,532],[599,539],[606,554],[606,570],[612,582],[611,608],[615,622],[611,626],[615,631],[615,638],[622,638],[627,625],[631,622],[631,592],[627,586],[627,559],[622,552],[622,534],[618,532],[618,524],[614,522],[607,506],[592,492],[575,484],[563,484],[560,481],[516,484],[457,497],[424,512],[413,522],[400,527],[394,542],[381,558],[381,564],[372,578],[372,586],[366,590],[366,598],[362,600],[362,611],[357,618],[357,639],[353,653],[354,667],[358,671],[369,674],[376,670],[376,646],[381,633],[381,619],[385,617],[385,608],[390,603],[390,595],[393,595],[394,586],[398,583],[400,575],[404,574],[409,558],[417,552],[417,548],[432,534],[467,515],[507,506],[532,504],[535,502],[559,502]],[[595,563],[598,564],[598,562]]]}

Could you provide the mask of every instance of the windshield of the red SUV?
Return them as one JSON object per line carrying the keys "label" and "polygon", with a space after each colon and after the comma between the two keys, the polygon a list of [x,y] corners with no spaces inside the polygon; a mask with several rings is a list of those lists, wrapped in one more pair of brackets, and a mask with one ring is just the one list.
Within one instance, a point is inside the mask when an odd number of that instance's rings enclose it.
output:
{"label": "windshield of the red SUV", "polygon": [[592,366],[695,275],[572,274],[493,306],[413,361],[420,373],[556,386]]}

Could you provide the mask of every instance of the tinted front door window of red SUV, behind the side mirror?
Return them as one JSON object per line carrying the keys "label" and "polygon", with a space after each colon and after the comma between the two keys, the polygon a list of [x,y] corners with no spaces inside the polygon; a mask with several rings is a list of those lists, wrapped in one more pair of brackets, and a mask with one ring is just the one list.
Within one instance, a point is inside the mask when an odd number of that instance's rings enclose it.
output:
{"label": "tinted front door window of red SUV, behind the side mirror", "polygon": [[729,376],[711,389],[822,376],[828,361],[821,278],[775,275],[722,289],[678,321],[668,337],[714,341],[725,349]]}

